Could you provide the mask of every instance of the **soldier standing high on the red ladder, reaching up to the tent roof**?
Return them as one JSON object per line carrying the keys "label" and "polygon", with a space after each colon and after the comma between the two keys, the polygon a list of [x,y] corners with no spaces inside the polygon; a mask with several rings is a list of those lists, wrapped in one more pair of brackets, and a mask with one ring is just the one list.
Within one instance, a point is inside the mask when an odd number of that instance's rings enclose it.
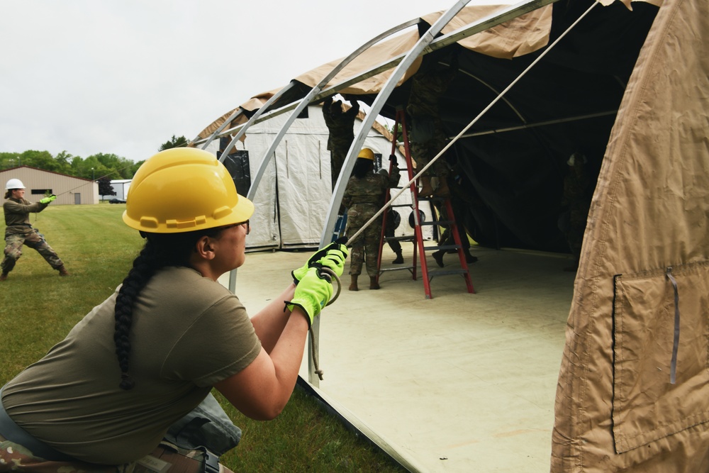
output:
{"label": "soldier standing high on the red ladder, reaching up to the tent roof", "polygon": [[[429,69],[419,69],[411,77],[411,93],[409,94],[406,113],[410,118],[411,130],[409,140],[411,155],[416,167],[421,169],[442,150],[447,142],[443,133],[443,122],[438,111],[438,101],[452,82],[457,72],[457,56],[453,57],[450,67],[434,65]],[[448,174],[445,161],[438,159],[421,176],[419,195],[447,197],[450,195],[446,176]],[[431,178],[438,178],[438,188],[431,185]]]}

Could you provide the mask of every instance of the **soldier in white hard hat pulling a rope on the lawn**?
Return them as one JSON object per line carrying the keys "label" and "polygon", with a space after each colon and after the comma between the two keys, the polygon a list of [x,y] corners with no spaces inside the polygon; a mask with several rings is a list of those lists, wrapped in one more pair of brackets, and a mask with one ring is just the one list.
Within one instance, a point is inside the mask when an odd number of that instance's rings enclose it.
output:
{"label": "soldier in white hard hat pulling a rope on the lawn", "polygon": [[59,271],[60,276],[69,273],[57,253],[48,245],[43,235],[40,235],[30,225],[30,213],[43,211],[57,196],[41,199],[34,204],[24,199],[25,188],[19,179],[10,179],[6,185],[5,203],[5,258],[0,263],[2,273],[0,281],[7,279],[7,275],[15,267],[17,260],[22,255],[22,245],[27,245],[42,255],[49,265]]}

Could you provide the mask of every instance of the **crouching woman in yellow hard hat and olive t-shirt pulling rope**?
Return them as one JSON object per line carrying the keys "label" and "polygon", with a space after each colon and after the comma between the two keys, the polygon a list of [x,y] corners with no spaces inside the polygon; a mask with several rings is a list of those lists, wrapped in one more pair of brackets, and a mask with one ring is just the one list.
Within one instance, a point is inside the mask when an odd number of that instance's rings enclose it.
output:
{"label": "crouching woman in yellow hard hat and olive t-shirt pulling rope", "polygon": [[[174,148],[145,161],[123,214],[145,247],[113,295],[0,390],[0,464],[133,472],[161,457],[175,468],[167,471],[218,471],[215,457],[240,431],[225,425],[212,387],[246,416],[277,416],[308,328],[333,295],[323,274],[342,274],[347,249],[316,252],[250,318],[217,279],[243,264],[253,212],[206,151]],[[223,435],[200,430],[209,421]]]}

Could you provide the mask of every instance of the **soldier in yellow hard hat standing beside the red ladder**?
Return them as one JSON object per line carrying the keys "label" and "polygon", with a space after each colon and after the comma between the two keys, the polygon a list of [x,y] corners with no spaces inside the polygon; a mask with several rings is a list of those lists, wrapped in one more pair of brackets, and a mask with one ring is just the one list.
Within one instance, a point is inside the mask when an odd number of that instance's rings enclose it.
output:
{"label": "soldier in yellow hard hat standing beside the red ladder", "polygon": [[[386,189],[396,186],[399,180],[399,169],[393,162],[391,175],[374,173],[374,152],[363,148],[354,163],[352,177],[347,182],[342,204],[347,207],[348,237],[367,223],[384,204]],[[350,275],[352,284],[350,291],[358,291],[357,277],[362,274],[362,262],[366,263],[369,274],[369,289],[379,289],[376,282],[376,258],[379,255],[379,240],[381,238],[381,217],[369,225],[352,242],[350,250]]]}

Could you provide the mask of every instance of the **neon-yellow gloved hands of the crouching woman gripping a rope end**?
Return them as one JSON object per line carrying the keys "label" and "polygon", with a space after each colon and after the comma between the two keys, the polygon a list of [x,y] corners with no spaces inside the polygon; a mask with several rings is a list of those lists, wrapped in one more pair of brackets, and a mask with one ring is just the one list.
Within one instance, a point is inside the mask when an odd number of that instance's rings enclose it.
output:
{"label": "neon-yellow gloved hands of the crouching woman gripping a rope end", "polygon": [[[333,304],[340,296],[342,284],[340,276],[345,271],[345,260],[349,250],[343,244],[345,238],[340,238],[330,245],[318,250],[311,256],[303,267],[291,272],[296,291],[293,299],[286,302],[286,308],[292,312],[294,307],[303,311],[308,319],[311,343],[313,344],[313,365],[320,379],[323,372],[318,367],[317,350],[315,350],[315,335],[313,334],[313,321],[320,311]],[[333,278],[337,281],[337,293],[333,297]]]}

